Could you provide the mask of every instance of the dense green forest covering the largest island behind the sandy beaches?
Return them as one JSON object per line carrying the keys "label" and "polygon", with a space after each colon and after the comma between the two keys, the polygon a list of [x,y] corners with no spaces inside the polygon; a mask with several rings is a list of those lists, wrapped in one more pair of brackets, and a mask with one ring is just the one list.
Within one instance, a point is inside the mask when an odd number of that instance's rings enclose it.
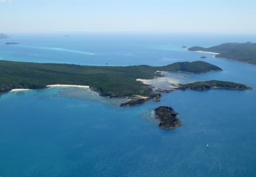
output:
{"label": "dense green forest covering the largest island behind the sandy beaches", "polygon": [[74,84],[90,86],[102,96],[151,96],[151,87],[136,79],[160,77],[161,74],[155,72],[157,70],[200,73],[200,71],[221,70],[221,68],[203,61],[174,63],[162,67],[148,65],[108,67],[0,61],[0,93],[11,89],[44,89],[51,84]]}

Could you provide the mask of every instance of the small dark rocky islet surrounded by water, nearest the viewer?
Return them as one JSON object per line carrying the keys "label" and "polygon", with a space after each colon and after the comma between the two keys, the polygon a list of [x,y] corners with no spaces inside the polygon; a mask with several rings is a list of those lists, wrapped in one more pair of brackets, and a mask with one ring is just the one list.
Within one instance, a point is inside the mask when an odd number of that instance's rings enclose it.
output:
{"label": "small dark rocky islet surrounded by water, nearest the viewer", "polygon": [[176,118],[177,112],[171,107],[160,106],[155,111],[155,119],[160,120],[159,127],[161,129],[175,129],[182,126],[182,121]]}

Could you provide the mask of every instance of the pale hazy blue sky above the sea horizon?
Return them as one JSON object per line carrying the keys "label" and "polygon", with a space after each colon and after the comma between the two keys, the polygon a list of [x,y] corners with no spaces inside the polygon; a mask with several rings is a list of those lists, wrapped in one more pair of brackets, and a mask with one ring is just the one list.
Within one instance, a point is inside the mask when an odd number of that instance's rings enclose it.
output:
{"label": "pale hazy blue sky above the sea horizon", "polygon": [[0,32],[256,33],[255,0],[0,0]]}

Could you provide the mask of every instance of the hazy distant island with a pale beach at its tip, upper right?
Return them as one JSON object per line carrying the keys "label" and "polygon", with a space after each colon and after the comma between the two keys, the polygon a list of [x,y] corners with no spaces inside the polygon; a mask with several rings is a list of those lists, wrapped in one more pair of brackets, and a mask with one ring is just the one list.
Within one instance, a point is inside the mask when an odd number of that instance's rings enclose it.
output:
{"label": "hazy distant island with a pale beach at its tip, upper right", "polygon": [[256,64],[256,44],[251,42],[226,43],[209,48],[196,46],[191,47],[188,50],[217,53],[215,57],[218,58],[228,58],[250,64]]}

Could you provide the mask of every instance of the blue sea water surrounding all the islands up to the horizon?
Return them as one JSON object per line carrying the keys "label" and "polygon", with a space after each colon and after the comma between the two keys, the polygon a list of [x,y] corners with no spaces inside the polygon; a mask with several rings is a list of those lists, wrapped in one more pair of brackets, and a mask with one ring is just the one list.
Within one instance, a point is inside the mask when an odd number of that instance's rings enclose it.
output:
{"label": "blue sea water surrounding all the islands up to the horizon", "polygon": [[[181,81],[229,80],[256,88],[256,66],[192,53],[182,45],[256,42],[230,35],[14,35],[5,60],[90,65],[163,65],[203,59],[224,71],[170,74]],[[4,42],[20,42],[5,46]],[[69,42],[67,42],[69,41]],[[170,47],[170,48],[168,48]],[[62,48],[65,50],[47,50]],[[86,55],[83,53],[93,53]],[[121,108],[87,89],[22,91],[0,97],[0,176],[255,176],[256,91],[174,91],[160,103]],[[183,126],[152,117],[174,107]],[[209,144],[209,148],[205,145]]]}

